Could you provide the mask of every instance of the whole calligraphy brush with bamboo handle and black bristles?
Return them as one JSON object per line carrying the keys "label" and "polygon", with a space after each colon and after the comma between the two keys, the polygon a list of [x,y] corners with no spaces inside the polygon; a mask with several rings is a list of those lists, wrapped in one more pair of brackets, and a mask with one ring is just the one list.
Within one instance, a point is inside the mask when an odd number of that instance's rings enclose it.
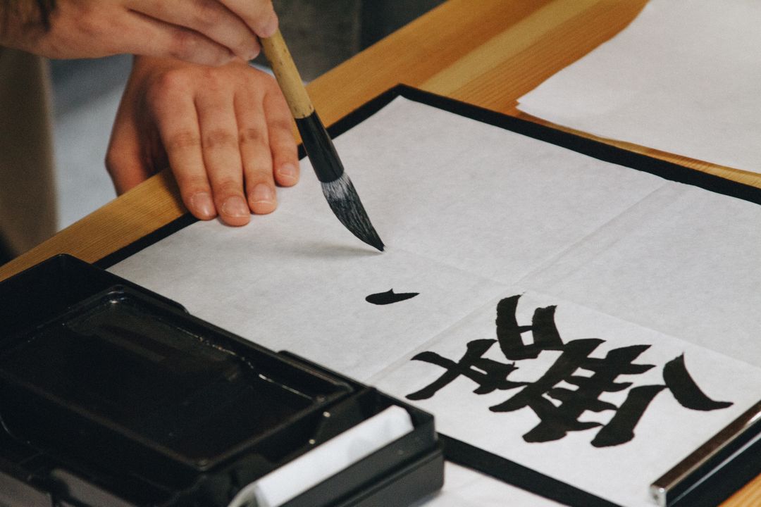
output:
{"label": "whole calligraphy brush with bamboo handle and black bristles", "polygon": [[336,147],[333,146],[333,141],[330,141],[323,122],[314,110],[280,30],[273,36],[260,40],[264,55],[269,60],[269,65],[272,65],[275,78],[296,120],[304,150],[307,151],[314,173],[320,180],[323,195],[330,209],[349,232],[383,252],[384,244],[370,223],[352,180],[343,170]]}

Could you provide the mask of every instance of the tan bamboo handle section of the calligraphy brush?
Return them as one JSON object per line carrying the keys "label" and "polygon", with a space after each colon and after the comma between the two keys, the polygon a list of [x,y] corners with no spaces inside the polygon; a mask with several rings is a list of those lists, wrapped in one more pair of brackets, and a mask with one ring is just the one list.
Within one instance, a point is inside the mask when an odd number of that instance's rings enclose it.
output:
{"label": "tan bamboo handle section of the calligraphy brush", "polygon": [[291,52],[288,51],[288,46],[285,46],[282,33],[278,30],[275,35],[260,41],[264,55],[269,60],[269,65],[272,65],[275,78],[291,109],[291,114],[295,119],[307,118],[314,112],[314,106],[291,58]]}

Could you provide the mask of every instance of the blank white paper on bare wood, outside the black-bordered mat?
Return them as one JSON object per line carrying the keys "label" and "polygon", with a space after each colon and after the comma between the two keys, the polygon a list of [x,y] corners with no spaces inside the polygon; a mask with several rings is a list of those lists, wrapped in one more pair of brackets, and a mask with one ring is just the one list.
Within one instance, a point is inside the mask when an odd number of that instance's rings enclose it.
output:
{"label": "blank white paper on bare wood, outside the black-bordered mat", "polygon": [[518,100],[604,138],[761,172],[761,2],[650,0],[629,27]]}

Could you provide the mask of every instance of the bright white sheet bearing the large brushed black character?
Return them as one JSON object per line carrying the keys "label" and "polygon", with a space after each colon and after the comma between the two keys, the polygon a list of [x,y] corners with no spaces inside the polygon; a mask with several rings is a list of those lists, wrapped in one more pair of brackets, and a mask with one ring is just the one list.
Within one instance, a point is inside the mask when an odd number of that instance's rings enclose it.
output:
{"label": "bright white sheet bearing the large brushed black character", "polygon": [[[433,351],[457,362],[466,352],[468,341],[495,337],[496,303],[495,300],[486,304],[447,330],[435,342],[422,347],[421,351]],[[761,370],[758,368],[728,360],[718,353],[656,331],[597,314],[555,296],[524,293],[518,306],[518,324],[530,325],[534,309],[551,305],[557,305],[555,320],[566,344],[572,340],[593,337],[603,340],[590,357],[602,359],[607,353],[621,347],[649,346],[632,363],[653,367],[641,374],[620,375],[616,382],[632,382],[632,387],[664,385],[663,366],[683,355],[687,371],[705,395],[714,401],[733,401],[734,405],[709,412],[689,410],[681,406],[670,391],[664,389],[644,411],[642,419],[635,426],[635,436],[631,441],[597,448],[591,445],[597,429],[569,432],[562,439],[552,442],[524,442],[524,434],[540,423],[533,410],[529,407],[515,412],[489,410],[489,407],[516,395],[519,388],[474,395],[473,390],[479,384],[460,375],[431,398],[413,403],[436,414],[436,427],[441,433],[457,436],[479,448],[495,450],[496,454],[504,458],[543,471],[550,477],[621,505],[645,507],[651,505],[651,499],[642,484],[649,484],[660,475],[659,471],[664,472],[673,467],[705,442],[706,434],[717,433],[759,398]],[[530,343],[530,334],[527,334],[526,341]],[[549,369],[557,356],[558,353],[546,351],[537,359],[514,361],[517,370],[508,379],[514,382],[535,382]],[[497,344],[489,349],[486,357],[501,363],[511,363],[500,354]],[[445,371],[441,366],[431,363],[405,360],[371,379],[371,383],[384,392],[402,398],[435,382]],[[586,369],[578,370],[578,375],[591,374]],[[738,382],[737,379],[742,381]],[[575,389],[568,384],[562,386]],[[628,393],[629,389],[605,392],[598,399],[620,406]],[[555,401],[555,404],[558,402]],[[605,424],[610,422],[612,416],[612,411],[594,413],[587,410],[579,420]],[[515,430],[505,431],[505,426],[508,425]]]}

